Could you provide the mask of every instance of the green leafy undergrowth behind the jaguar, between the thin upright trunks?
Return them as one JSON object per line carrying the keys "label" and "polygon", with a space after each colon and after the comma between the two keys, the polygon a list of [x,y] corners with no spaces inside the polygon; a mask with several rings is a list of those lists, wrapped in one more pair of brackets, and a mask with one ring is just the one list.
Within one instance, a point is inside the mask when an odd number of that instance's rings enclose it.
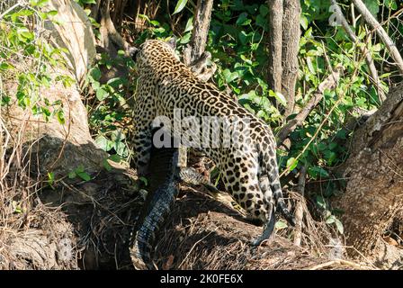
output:
{"label": "green leafy undergrowth behind the jaguar, between the thin upright trunks", "polygon": [[[402,41],[403,25],[399,17],[390,15],[399,13],[399,3],[394,0],[367,0],[372,14],[387,19],[387,29],[392,31],[397,42]],[[193,32],[192,1],[179,0],[171,4],[169,14],[150,19],[140,14],[146,28],[135,35],[134,44],[139,45],[146,39],[166,40],[175,35],[178,55],[191,40]],[[343,232],[337,212],[328,205],[328,199],[343,187],[343,179],[336,174],[336,167],[344,163],[348,156],[348,139],[351,130],[345,125],[363,111],[370,111],[381,104],[377,87],[364,61],[360,47],[366,46],[371,57],[378,63],[385,63],[389,58],[383,43],[369,33],[366,24],[354,18],[352,27],[358,41],[353,42],[341,26],[329,25],[332,12],[330,1],[301,1],[300,14],[300,49],[299,77],[297,81],[297,109],[302,109],[318,89],[318,85],[335,70],[343,67],[344,73],[336,89],[325,91],[324,99],[309,114],[303,126],[292,131],[291,147],[279,149],[279,163],[282,174],[298,175],[301,166],[307,167],[311,199],[328,224],[336,224]],[[169,6],[168,6],[169,7]],[[342,3],[345,13],[353,13],[348,2]],[[189,8],[189,9],[185,9]],[[285,98],[280,93],[270,90],[267,85],[267,49],[269,7],[263,1],[251,4],[241,0],[220,0],[214,5],[211,15],[207,50],[218,69],[213,81],[222,90],[230,91],[246,109],[270,123],[275,131],[282,128],[288,120],[282,117]],[[172,17],[182,17],[175,27],[170,23]],[[176,18],[177,19],[177,18]],[[174,30],[173,30],[174,28]],[[103,58],[103,64],[108,65]],[[101,63],[100,63],[101,64]],[[388,86],[396,80],[397,71],[390,67],[381,67],[381,89],[388,91]],[[117,107],[124,106],[127,99],[128,82],[125,78],[112,79],[99,84],[100,70],[94,67],[88,79],[92,85],[96,100],[91,108],[91,124],[97,143],[106,151],[116,153],[126,160],[130,159],[129,146],[125,142],[126,132],[120,127],[128,111]],[[134,91],[135,82],[131,82],[129,91]]]}

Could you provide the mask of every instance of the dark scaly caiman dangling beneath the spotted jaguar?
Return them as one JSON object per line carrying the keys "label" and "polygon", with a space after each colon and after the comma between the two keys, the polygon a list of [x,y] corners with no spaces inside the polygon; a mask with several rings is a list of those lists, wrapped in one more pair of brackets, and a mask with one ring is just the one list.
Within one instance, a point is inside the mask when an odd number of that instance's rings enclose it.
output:
{"label": "dark scaly caiman dangling beneath the spotted jaguar", "polygon": [[204,184],[210,191],[217,191],[193,168],[179,167],[177,148],[153,147],[148,175],[148,194],[130,244],[130,257],[136,269],[155,269],[152,250],[157,232],[173,209],[180,182]]}

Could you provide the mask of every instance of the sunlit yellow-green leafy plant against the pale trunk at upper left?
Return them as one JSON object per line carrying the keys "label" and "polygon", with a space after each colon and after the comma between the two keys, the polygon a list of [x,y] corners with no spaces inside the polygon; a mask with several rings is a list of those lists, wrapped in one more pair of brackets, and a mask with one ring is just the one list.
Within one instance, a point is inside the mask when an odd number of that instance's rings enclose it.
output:
{"label": "sunlit yellow-green leafy plant against the pale trunk at upper left", "polygon": [[[61,53],[65,49],[55,48],[41,37],[43,27],[35,30],[29,23],[32,20],[42,23],[52,21],[57,11],[42,12],[41,7],[48,0],[31,0],[30,5],[15,5],[13,11],[0,18],[0,96],[1,105],[17,103],[23,109],[31,109],[34,115],[49,121],[56,117],[60,124],[65,123],[61,101],[50,103],[41,97],[40,88],[49,88],[56,83],[71,85],[69,76],[51,76],[49,70],[63,66]],[[57,24],[57,23],[56,23]],[[17,81],[15,98],[6,94],[2,85]]]}

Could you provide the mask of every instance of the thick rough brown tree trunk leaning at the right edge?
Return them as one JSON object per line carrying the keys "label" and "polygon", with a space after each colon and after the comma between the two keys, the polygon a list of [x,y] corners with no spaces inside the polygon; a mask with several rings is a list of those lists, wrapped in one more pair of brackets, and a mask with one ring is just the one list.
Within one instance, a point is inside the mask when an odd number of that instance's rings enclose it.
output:
{"label": "thick rough brown tree trunk leaning at the right edge", "polygon": [[403,251],[382,236],[393,226],[402,227],[403,84],[391,90],[379,111],[355,132],[352,143],[345,163],[346,191],[335,202],[345,211],[346,241],[354,247],[348,252],[401,265]]}

